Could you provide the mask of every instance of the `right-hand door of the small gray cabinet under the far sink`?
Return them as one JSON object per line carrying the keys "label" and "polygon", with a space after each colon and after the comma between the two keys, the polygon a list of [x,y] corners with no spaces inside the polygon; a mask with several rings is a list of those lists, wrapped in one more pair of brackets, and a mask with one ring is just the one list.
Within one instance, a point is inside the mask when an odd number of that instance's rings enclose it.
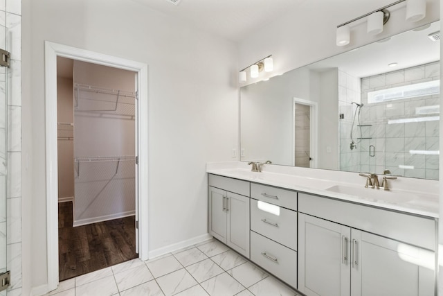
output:
{"label": "right-hand door of the small gray cabinet under the far sink", "polygon": [[227,245],[249,258],[249,198],[231,192],[227,197]]}

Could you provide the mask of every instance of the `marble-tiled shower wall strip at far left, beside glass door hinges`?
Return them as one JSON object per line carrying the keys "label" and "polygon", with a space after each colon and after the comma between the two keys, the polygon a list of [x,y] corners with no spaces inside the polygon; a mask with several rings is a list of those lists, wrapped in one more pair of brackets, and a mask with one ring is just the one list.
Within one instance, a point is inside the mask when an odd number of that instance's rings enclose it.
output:
{"label": "marble-tiled shower wall strip at far left, beside glass door hinges", "polygon": [[[5,93],[3,70],[0,72],[0,112],[7,112],[8,122],[1,122],[7,128],[7,145],[0,145],[0,157],[8,157],[6,191],[6,267],[11,272],[8,296],[21,295],[21,1],[0,0],[0,25],[8,28],[6,42],[11,53],[8,69],[6,104],[1,94]],[[3,75],[3,76],[2,76]],[[2,110],[5,108],[6,110]],[[1,139],[3,144],[3,139]],[[1,175],[1,173],[0,173]],[[3,183],[2,183],[3,184]],[[0,188],[0,192],[4,190]],[[4,203],[2,202],[2,205]],[[1,209],[1,208],[0,208]],[[4,214],[0,212],[0,216]],[[1,232],[4,228],[1,227]],[[3,232],[4,236],[4,232]],[[3,243],[4,245],[4,243]],[[3,250],[1,256],[4,256]],[[3,295],[3,294],[2,294]]]}

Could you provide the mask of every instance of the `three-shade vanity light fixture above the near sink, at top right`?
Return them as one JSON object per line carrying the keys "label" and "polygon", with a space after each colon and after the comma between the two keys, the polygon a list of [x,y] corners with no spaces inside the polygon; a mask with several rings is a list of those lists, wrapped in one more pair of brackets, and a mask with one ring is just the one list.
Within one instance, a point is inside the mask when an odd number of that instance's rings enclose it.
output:
{"label": "three-shade vanity light fixture above the near sink, at top right", "polygon": [[354,21],[367,17],[367,32],[368,34],[379,34],[383,32],[383,25],[386,24],[390,17],[390,12],[386,8],[395,6],[401,2],[406,1],[406,21],[419,21],[426,16],[426,0],[399,0],[383,6],[377,10],[373,10],[361,17],[356,17],[350,21],[337,26],[336,31],[336,45],[345,46],[350,43],[350,26]]}

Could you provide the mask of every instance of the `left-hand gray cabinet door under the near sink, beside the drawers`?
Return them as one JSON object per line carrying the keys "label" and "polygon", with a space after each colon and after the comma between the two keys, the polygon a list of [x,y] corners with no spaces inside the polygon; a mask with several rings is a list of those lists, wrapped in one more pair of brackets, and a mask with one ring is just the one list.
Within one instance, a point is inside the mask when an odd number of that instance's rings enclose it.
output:
{"label": "left-hand gray cabinet door under the near sink, beside the drawers", "polygon": [[298,240],[298,290],[349,296],[350,227],[299,213]]}

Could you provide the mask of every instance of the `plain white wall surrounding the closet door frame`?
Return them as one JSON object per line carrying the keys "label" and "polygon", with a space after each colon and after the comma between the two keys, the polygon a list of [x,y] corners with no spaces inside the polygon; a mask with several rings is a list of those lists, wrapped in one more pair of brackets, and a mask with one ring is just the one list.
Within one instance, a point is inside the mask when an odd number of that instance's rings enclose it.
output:
{"label": "plain white wall surrounding the closet door frame", "polygon": [[237,147],[236,45],[128,0],[24,0],[23,13],[25,290],[47,281],[44,40],[149,65],[149,249],[206,234],[206,162]]}

